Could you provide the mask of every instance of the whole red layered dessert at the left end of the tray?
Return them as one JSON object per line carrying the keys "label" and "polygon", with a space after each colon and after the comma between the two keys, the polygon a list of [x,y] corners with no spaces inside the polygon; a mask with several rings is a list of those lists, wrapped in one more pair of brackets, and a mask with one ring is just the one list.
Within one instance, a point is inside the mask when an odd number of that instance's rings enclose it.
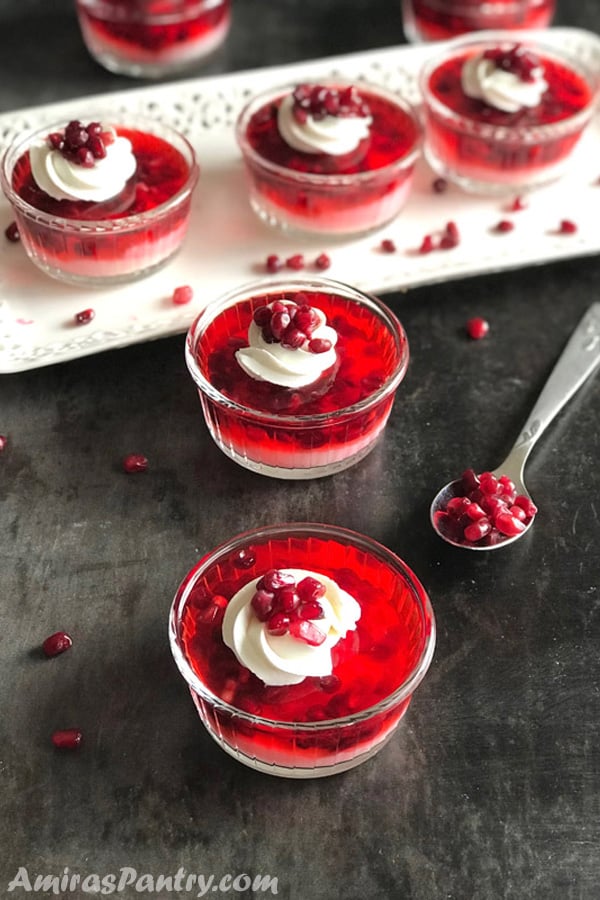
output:
{"label": "whole red layered dessert at the left end of the tray", "polygon": [[102,287],[148,275],[177,253],[198,166],[170,126],[106,116],[19,137],[0,179],[32,262],[62,281]]}

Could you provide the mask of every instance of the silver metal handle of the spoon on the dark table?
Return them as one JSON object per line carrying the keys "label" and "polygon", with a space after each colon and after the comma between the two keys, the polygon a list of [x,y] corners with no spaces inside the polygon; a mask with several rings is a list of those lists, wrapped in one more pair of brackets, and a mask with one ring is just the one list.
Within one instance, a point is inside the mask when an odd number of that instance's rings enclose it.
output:
{"label": "silver metal handle of the spoon on the dark table", "polygon": [[[579,390],[600,362],[600,303],[589,307],[569,338],[565,349],[531,410],[520,437],[504,466],[522,472],[534,444],[552,419]],[[503,469],[503,466],[499,468]],[[503,469],[504,470],[504,469]]]}

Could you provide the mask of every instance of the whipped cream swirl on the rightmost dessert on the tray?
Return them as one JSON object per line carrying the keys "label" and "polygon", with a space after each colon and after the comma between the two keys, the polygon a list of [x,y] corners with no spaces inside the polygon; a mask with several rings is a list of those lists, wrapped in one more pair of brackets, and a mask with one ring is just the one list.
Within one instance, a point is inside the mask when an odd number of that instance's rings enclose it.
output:
{"label": "whipped cream swirl on the rightmost dessert on the tray", "polygon": [[[518,53],[513,51],[513,53]],[[537,106],[548,88],[541,65],[521,72],[502,68],[485,54],[473,56],[462,67],[461,85],[468,97],[483,100],[501,112],[515,113]]]}

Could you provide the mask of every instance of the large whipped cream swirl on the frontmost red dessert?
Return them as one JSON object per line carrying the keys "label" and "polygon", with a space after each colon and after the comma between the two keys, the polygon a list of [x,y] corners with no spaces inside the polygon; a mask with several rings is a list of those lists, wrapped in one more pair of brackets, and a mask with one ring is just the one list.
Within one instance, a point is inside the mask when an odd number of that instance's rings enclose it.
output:
{"label": "large whipped cream swirl on the frontmost red dessert", "polygon": [[347,591],[327,575],[305,569],[282,569],[296,582],[316,578],[325,587],[319,598],[323,615],[311,620],[325,634],[318,646],[305,643],[291,634],[269,634],[252,608],[252,598],[260,578],[244,585],[229,601],[223,618],[223,641],[233,650],[238,662],[250,669],[266,685],[300,684],[308,676],[332,674],[331,649],[349,631],[356,628],[361,609]]}

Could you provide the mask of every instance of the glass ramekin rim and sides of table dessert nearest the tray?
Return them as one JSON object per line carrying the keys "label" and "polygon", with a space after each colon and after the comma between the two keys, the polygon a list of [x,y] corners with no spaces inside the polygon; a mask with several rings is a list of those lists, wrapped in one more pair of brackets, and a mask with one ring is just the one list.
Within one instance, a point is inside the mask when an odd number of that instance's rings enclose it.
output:
{"label": "glass ramekin rim and sides of table dessert nearest the tray", "polygon": [[[239,309],[246,306],[246,319],[256,305],[281,298],[286,292],[319,292],[332,304],[331,311],[339,315],[347,313],[353,321],[369,327],[377,334],[369,354],[377,361],[377,352],[385,354],[386,374],[383,383],[377,382],[372,393],[340,408],[312,414],[282,414],[274,410],[265,412],[226,396],[211,383],[209,354],[220,346],[239,339]],[[322,302],[315,302],[325,311]],[[233,310],[227,314],[227,310]],[[335,318],[335,314],[333,316]],[[211,325],[223,320],[223,335],[215,346],[212,344]],[[229,321],[226,321],[229,320]],[[329,324],[332,317],[328,313]],[[244,322],[245,327],[245,322]],[[216,329],[217,326],[214,326]],[[220,328],[220,325],[219,325]],[[356,332],[354,332],[356,333]],[[360,330],[358,330],[360,335]],[[359,336],[366,345],[365,338]],[[353,346],[348,344],[348,346]],[[338,342],[338,357],[344,352]],[[350,355],[352,352],[347,351]],[[362,460],[374,447],[384,430],[394,402],[396,389],[408,366],[409,349],[404,329],[387,306],[375,297],[364,294],[349,285],[325,278],[304,278],[269,281],[263,280],[243,285],[210,303],[192,324],[186,339],[185,356],[188,369],[200,396],[206,424],[221,450],[251,471],[274,478],[306,479],[332,475]],[[373,362],[375,367],[375,362]],[[234,363],[234,370],[237,363]],[[241,370],[240,370],[241,371]],[[337,377],[337,375],[336,375]],[[365,369],[365,378],[369,377]],[[213,377],[214,381],[214,377]],[[257,383],[258,384],[258,383]],[[264,385],[264,382],[262,383]],[[336,384],[335,381],[332,382]],[[279,390],[279,397],[286,402],[288,395]],[[291,390],[291,389],[290,389]],[[329,390],[329,388],[327,388]],[[325,394],[326,396],[326,394]]]}

